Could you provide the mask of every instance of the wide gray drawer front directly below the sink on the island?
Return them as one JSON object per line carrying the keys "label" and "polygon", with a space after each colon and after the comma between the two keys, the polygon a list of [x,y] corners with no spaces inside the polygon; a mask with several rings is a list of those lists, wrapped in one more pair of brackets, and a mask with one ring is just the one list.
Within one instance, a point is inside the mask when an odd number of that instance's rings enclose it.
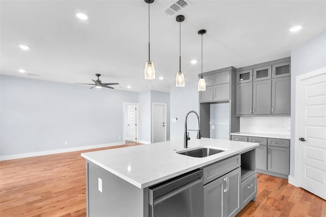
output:
{"label": "wide gray drawer front directly below the sink on the island", "polygon": [[234,170],[237,167],[240,167],[241,159],[240,155],[236,155],[227,159],[224,159],[220,162],[216,162],[208,167],[203,168],[203,180],[204,184],[213,181],[220,176]]}

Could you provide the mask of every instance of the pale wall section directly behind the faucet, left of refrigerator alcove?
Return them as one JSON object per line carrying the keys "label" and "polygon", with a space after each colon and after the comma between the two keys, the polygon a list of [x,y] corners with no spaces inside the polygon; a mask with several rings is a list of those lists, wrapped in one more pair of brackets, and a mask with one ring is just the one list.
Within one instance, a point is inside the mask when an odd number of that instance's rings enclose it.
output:
{"label": "pale wall section directly behind the faucet, left of refrigerator alcove", "polygon": [[[171,111],[170,111],[170,140],[181,140],[183,139],[184,133],[184,120],[186,114],[195,110],[199,112],[199,99],[198,99],[198,83],[197,82],[186,82],[185,87],[177,88],[175,86],[170,88],[170,100],[171,100]],[[177,122],[172,122],[172,119],[178,118]],[[188,129],[197,129],[198,121],[195,114],[188,116]],[[196,140],[197,132],[190,132],[192,140]],[[189,141],[191,143],[191,141]]]}

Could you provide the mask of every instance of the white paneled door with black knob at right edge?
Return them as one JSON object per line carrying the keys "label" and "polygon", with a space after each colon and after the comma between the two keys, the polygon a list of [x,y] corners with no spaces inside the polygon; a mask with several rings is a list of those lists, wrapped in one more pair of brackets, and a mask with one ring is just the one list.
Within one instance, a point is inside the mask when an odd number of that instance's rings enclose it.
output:
{"label": "white paneled door with black knob at right edge", "polygon": [[299,125],[300,186],[326,200],[325,71],[301,82]]}

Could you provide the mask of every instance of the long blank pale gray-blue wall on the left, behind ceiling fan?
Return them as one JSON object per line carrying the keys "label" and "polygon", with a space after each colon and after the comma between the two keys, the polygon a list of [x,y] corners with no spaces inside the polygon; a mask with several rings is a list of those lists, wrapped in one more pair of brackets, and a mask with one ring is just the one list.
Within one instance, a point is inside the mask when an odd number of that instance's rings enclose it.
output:
{"label": "long blank pale gray-blue wall on the left, behind ceiling fan", "polygon": [[138,102],[137,92],[0,78],[1,156],[122,142],[123,102]]}

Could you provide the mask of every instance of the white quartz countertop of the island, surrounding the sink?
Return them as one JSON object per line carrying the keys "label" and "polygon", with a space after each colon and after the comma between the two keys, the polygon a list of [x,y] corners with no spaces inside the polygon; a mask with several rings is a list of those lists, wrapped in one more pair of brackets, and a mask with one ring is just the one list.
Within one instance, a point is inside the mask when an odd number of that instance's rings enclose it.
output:
{"label": "white quartz countertop of the island, surrounding the sink", "polygon": [[145,188],[213,162],[246,152],[258,143],[202,138],[188,141],[188,149],[198,146],[215,147],[225,151],[208,157],[191,157],[176,153],[183,148],[183,140],[82,153],[99,167]]}

